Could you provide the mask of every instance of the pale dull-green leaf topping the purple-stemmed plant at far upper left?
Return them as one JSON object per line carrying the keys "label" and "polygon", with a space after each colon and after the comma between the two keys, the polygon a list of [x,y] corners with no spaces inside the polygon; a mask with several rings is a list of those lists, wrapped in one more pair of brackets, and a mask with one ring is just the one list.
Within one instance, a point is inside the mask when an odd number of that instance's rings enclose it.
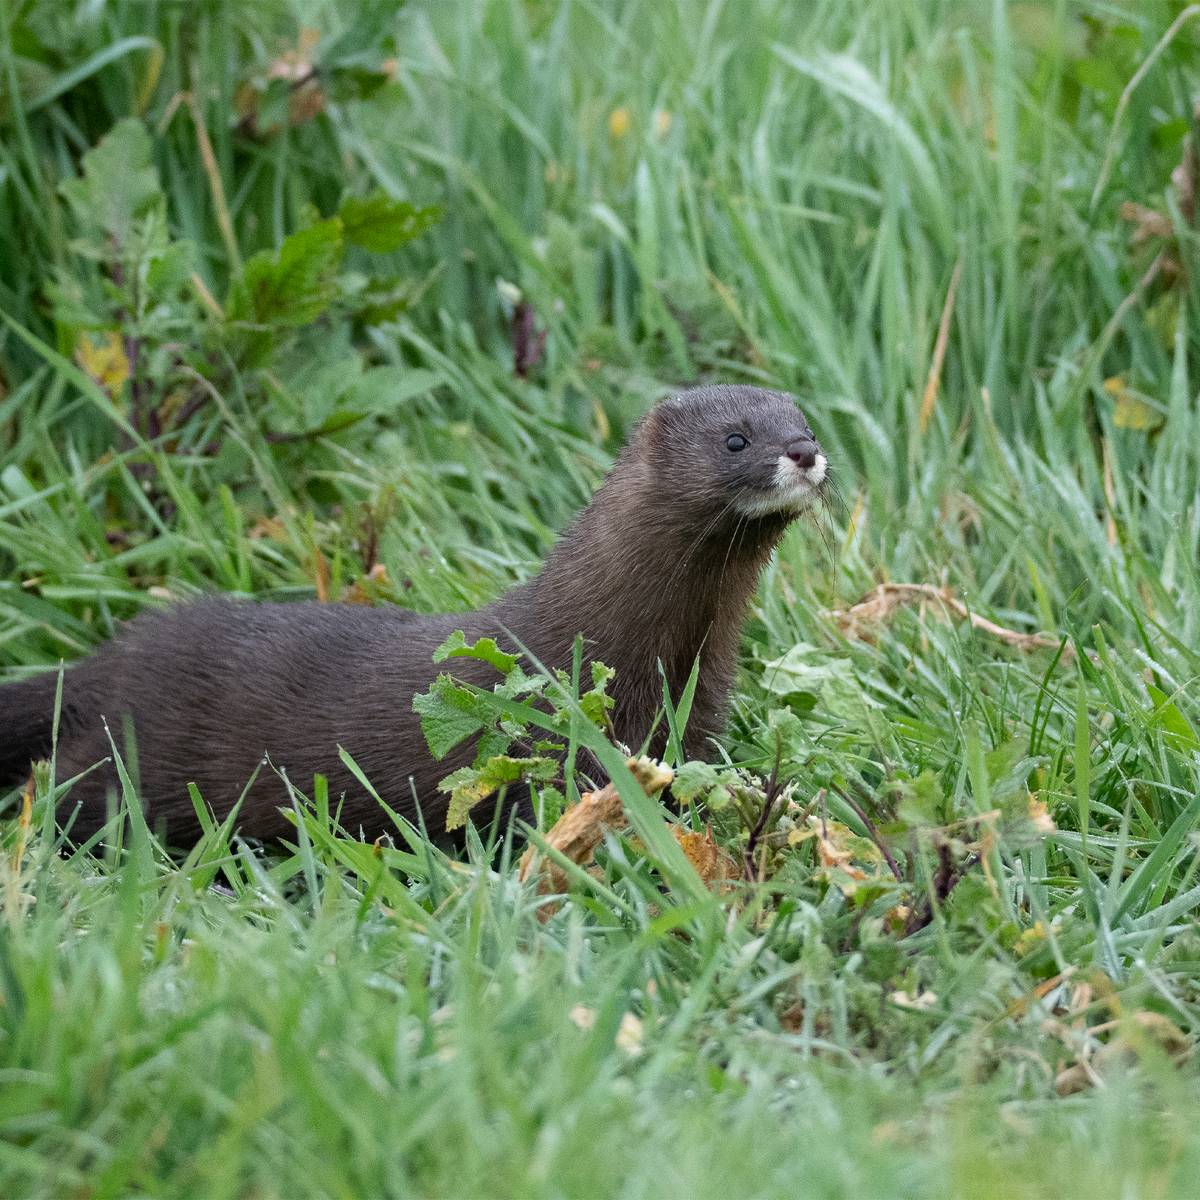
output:
{"label": "pale dull-green leaf topping the purple-stemmed plant at far upper left", "polygon": [[84,229],[118,246],[130,240],[134,223],[162,199],[152,151],[145,126],[128,116],[83,156],[83,175],[60,191]]}

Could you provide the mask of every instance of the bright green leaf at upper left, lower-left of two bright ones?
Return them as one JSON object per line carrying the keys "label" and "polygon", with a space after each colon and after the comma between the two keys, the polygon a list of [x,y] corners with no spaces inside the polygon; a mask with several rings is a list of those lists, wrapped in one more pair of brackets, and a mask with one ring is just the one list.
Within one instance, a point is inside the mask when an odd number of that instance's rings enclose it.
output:
{"label": "bright green leaf at upper left, lower-left of two bright ones", "polygon": [[307,325],[334,302],[344,244],[337,217],[284,239],[278,252],[259,251],[234,283],[227,312],[252,325]]}

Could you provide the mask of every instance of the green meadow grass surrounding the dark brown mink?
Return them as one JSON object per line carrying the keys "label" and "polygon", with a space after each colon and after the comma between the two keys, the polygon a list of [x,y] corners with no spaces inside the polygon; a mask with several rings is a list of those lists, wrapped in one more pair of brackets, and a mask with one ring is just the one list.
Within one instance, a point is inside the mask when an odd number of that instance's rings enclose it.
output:
{"label": "green meadow grass surrounding the dark brown mink", "polygon": [[[917,881],[866,854],[847,898],[809,840],[770,888],[697,899],[614,840],[542,923],[503,852],[451,863],[397,830],[376,854],[319,804],[294,853],[214,830],[172,860],[136,823],[60,852],[43,781],[31,827],[4,822],[0,1195],[1194,1193],[1183,11],[0,6],[7,674],[164,592],[337,596],[372,559],[384,601],[474,605],[535,568],[656,395],[784,386],[845,505],[763,580],[726,752],[766,775],[781,746],[798,803],[824,788],[862,833],[856,797]],[[301,26],[325,106],[288,125],[266,76]],[[161,197],[114,242],[60,184],[128,116]],[[377,191],[442,217],[340,246],[314,322],[227,319],[240,264]],[[1170,234],[1130,244],[1127,202]],[[384,277],[407,307],[376,322]],[[547,331],[528,379],[512,288]],[[74,365],[108,330],[136,389]],[[847,637],[830,613],[882,581],[1067,650],[935,604]],[[896,936],[950,834],[982,860]],[[1060,1096],[1080,1063],[1092,1086]]]}

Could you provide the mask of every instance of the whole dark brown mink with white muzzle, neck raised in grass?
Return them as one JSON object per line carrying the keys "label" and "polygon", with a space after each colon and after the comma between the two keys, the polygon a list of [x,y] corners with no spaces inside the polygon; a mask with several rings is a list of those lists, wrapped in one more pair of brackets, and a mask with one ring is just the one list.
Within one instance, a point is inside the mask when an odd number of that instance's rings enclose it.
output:
{"label": "whole dark brown mink with white muzzle, neck raised in grass", "polygon": [[[342,745],[383,799],[409,817],[419,802],[438,834],[446,797],[437,784],[474,748],[434,761],[413,696],[437,674],[433,652],[455,629],[508,646],[510,630],[544,664],[564,667],[582,632],[586,659],[617,670],[612,720],[632,748],[660,707],[659,660],[678,696],[700,654],[685,750],[701,756],[724,725],[758,574],[824,478],[826,457],[792,396],[685,391],[642,419],[541,574],[479,612],[214,599],[137,617],[64,676],[58,778],[110,756],[103,718],[118,746],[131,721],[146,816],[173,845],[200,832],[187,784],[223,818],[264,754],[304,791],[324,774],[331,797],[344,793],[344,827],[374,836],[390,822],[343,767]],[[484,686],[497,679],[467,659],[454,672]],[[49,673],[0,688],[0,784],[19,784],[49,754],[55,684]],[[103,824],[116,787],[108,762],[71,788],[62,812],[80,806],[73,838]],[[241,832],[288,835],[286,804],[282,780],[264,767]]]}

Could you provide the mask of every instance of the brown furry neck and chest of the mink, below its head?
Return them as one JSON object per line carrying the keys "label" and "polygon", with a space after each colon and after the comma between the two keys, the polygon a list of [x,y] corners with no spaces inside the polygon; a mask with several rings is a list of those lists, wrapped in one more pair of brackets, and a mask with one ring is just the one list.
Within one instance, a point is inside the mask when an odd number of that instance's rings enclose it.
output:
{"label": "brown furry neck and chest of the mink, below its head", "polygon": [[697,654],[703,678],[721,691],[760,571],[786,528],[786,516],[720,516],[698,503],[680,511],[658,494],[646,464],[626,462],[541,574],[493,613],[547,666],[569,662],[582,632],[586,656],[617,668],[618,708],[622,697],[641,697],[642,707],[661,697],[659,661],[677,697]]}

